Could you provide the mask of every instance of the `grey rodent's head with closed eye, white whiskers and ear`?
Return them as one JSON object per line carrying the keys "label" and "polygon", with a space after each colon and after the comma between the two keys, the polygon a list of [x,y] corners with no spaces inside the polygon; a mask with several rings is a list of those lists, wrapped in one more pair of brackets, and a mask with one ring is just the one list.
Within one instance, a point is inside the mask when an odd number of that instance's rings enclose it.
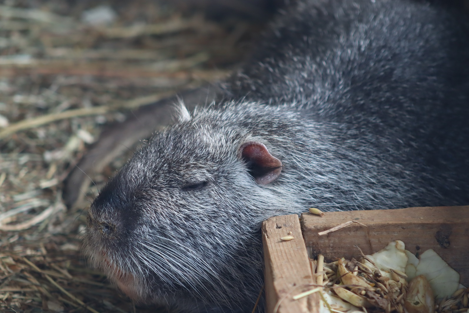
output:
{"label": "grey rodent's head with closed eye, white whiskers and ear", "polygon": [[91,205],[85,252],[131,298],[188,312],[252,308],[258,229],[278,213],[270,195],[282,163],[228,115],[202,112],[156,134]]}

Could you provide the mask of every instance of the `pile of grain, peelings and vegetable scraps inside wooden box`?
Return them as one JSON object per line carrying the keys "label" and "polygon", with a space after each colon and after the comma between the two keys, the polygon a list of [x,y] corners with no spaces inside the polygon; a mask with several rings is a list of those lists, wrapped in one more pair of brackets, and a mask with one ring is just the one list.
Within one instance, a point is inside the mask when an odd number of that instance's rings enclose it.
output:
{"label": "pile of grain, peelings and vegetable scraps inside wooden box", "polygon": [[314,261],[325,286],[321,313],[469,313],[469,288],[433,250],[417,259],[397,240],[359,260],[322,259]]}

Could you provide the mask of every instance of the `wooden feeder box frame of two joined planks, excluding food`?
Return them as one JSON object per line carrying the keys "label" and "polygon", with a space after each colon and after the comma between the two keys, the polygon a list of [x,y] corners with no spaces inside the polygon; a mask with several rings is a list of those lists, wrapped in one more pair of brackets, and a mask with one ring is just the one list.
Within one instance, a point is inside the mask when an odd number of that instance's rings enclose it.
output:
{"label": "wooden feeder box frame of two joined planks, excluding food", "polygon": [[[318,233],[348,224],[325,235]],[[280,238],[293,236],[290,241]],[[378,252],[401,240],[406,250],[433,249],[469,287],[469,206],[411,207],[394,210],[303,213],[275,216],[262,225],[265,259],[266,313],[316,313],[318,293],[294,300],[316,283],[310,258],[323,254],[325,262]]]}

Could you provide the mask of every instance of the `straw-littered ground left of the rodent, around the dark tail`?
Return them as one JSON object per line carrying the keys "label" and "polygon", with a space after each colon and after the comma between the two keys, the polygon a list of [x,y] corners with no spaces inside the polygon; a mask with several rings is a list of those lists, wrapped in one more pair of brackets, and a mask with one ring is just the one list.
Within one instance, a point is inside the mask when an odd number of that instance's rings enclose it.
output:
{"label": "straw-littered ground left of the rodent, around the dark tail", "polygon": [[156,0],[0,1],[0,312],[157,312],[87,266],[62,181],[104,125],[226,76],[253,27]]}

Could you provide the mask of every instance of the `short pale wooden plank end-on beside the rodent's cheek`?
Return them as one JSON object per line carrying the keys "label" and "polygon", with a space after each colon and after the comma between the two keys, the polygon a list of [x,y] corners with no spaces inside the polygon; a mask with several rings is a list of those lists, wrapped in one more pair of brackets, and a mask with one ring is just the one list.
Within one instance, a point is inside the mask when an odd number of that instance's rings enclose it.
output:
{"label": "short pale wooden plank end-on beside the rodent's cheek", "polygon": [[[291,234],[289,234],[291,232]],[[295,239],[282,241],[281,237]],[[274,216],[262,224],[265,260],[266,313],[317,312],[319,295],[293,300],[293,296],[315,288],[310,261],[301,234],[298,215]],[[276,305],[280,305],[276,308]]]}

